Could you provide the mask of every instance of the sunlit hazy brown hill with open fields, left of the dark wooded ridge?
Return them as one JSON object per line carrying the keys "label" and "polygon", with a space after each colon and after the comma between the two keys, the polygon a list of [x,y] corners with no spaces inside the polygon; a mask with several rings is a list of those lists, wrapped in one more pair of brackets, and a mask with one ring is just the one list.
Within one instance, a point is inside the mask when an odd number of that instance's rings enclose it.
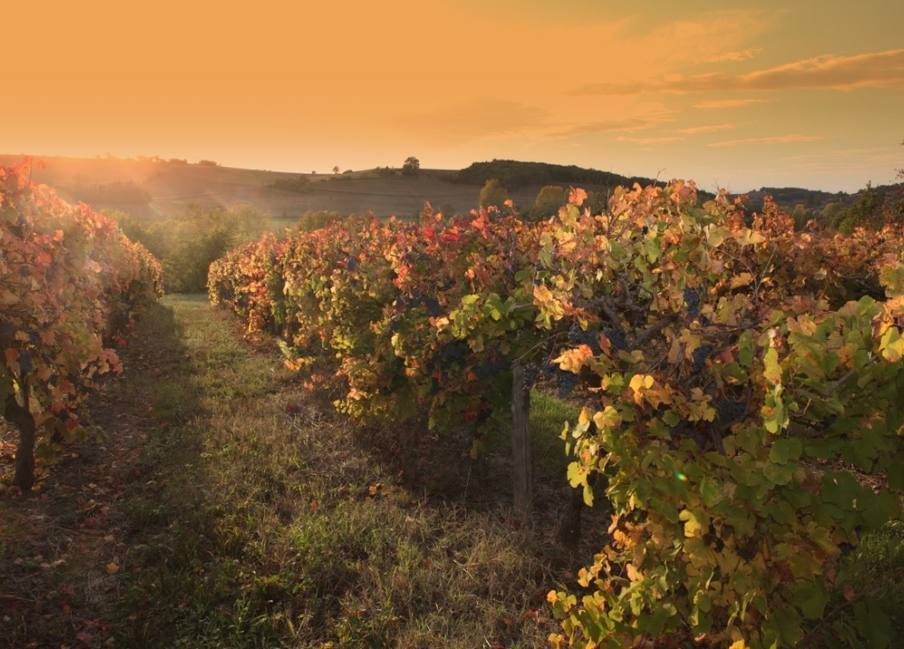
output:
{"label": "sunlit hazy brown hill with open fields, left of the dark wooded ridge", "polygon": [[[0,164],[20,162],[23,155],[0,155]],[[410,216],[428,200],[436,207],[465,211],[477,204],[480,187],[454,184],[454,172],[422,170],[417,176],[377,174],[287,173],[236,169],[181,160],[42,157],[33,181],[53,187],[62,198],[89,202],[95,209],[121,209],[132,216],[165,219],[182,214],[190,203],[229,208],[247,203],[277,220],[297,220],[306,211],[326,209],[342,214]],[[303,192],[279,189],[307,181]],[[530,197],[532,201],[533,198]],[[526,199],[526,197],[525,197]],[[519,198],[520,200],[520,198]]]}

